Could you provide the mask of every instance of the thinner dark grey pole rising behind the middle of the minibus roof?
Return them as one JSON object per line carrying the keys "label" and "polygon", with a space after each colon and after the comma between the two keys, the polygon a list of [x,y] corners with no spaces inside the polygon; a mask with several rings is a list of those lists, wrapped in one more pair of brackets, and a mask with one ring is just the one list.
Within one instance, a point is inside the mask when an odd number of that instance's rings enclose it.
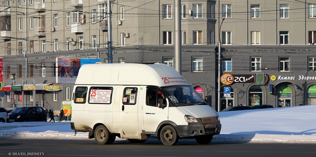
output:
{"label": "thinner dark grey pole rising behind the middle of the minibus roof", "polygon": [[111,10],[111,1],[106,1],[106,17],[107,17],[107,63],[113,63],[113,57],[112,57],[112,10]]}

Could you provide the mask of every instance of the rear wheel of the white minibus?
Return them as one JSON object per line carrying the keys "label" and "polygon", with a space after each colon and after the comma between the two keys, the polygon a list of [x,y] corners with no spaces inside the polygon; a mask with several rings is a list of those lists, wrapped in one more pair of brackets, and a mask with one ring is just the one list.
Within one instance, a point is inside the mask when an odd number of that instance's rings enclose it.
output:
{"label": "rear wheel of the white minibus", "polygon": [[94,130],[94,140],[98,144],[111,144],[115,141],[115,136],[104,125],[99,125]]}

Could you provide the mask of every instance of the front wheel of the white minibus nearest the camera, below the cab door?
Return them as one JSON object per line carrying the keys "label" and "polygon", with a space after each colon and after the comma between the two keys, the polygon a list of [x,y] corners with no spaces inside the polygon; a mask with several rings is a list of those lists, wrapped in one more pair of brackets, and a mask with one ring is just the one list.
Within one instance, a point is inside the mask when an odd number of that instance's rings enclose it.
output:
{"label": "front wheel of the white minibus nearest the camera, below the cab door", "polygon": [[179,137],[173,126],[166,125],[160,131],[160,139],[164,145],[171,146],[178,142]]}

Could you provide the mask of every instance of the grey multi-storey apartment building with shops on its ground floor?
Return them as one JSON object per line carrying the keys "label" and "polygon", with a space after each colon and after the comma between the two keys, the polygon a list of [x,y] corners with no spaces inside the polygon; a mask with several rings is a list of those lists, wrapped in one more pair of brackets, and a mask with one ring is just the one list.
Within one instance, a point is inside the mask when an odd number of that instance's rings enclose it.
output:
{"label": "grey multi-storey apartment building with shops on its ground floor", "polygon": [[[116,0],[111,8],[113,63],[173,67],[174,1]],[[182,75],[216,110],[228,104],[316,104],[315,8],[312,0],[182,0]],[[3,106],[60,110],[63,101],[71,101],[74,82],[58,81],[58,58],[107,62],[106,11],[106,1],[98,0],[5,1],[0,8]]]}

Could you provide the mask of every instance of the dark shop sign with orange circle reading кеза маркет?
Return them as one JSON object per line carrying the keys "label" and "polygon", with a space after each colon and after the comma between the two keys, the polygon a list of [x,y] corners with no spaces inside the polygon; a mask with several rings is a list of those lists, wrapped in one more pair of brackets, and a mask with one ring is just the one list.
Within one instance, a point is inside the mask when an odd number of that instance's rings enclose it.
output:
{"label": "dark shop sign with orange circle reading \u043a\u0435\u0437\u0430 \u043c\u0430\u0440\u043a\u0435\u0442", "polygon": [[254,73],[254,74],[224,74],[221,76],[222,84],[232,84],[232,83],[248,83],[254,82],[256,85],[264,85],[268,81],[268,76],[265,73]]}

